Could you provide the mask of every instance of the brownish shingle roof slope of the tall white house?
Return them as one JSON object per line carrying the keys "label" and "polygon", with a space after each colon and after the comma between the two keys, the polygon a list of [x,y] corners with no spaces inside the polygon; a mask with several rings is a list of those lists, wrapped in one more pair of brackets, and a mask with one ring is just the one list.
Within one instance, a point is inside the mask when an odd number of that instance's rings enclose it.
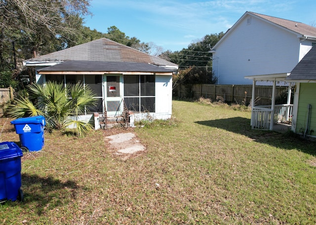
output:
{"label": "brownish shingle roof slope of the tall white house", "polygon": [[291,21],[291,20],[285,20],[285,19],[281,19],[281,18],[277,18],[273,16],[267,16],[267,15],[254,13],[254,12],[248,12],[248,13],[259,16],[281,27],[300,33],[302,35],[316,36],[316,28],[309,26],[307,24],[303,24],[303,23]]}

